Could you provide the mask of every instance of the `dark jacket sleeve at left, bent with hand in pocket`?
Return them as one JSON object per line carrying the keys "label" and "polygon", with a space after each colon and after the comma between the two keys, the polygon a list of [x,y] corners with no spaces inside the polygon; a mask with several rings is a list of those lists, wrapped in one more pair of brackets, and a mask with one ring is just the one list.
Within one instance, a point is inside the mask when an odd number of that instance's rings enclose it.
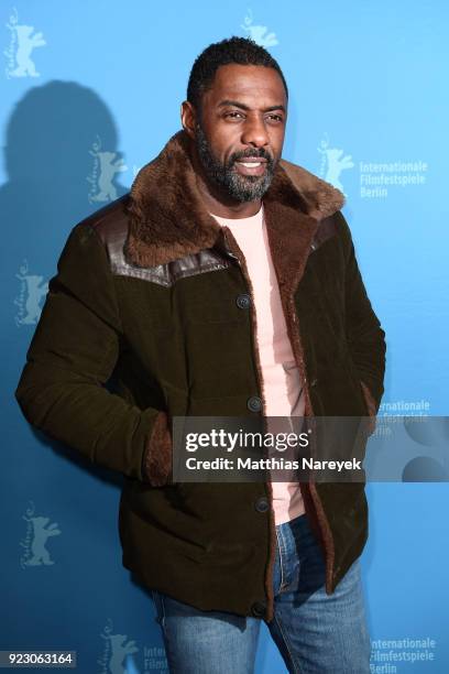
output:
{"label": "dark jacket sleeve at left, bent with hand in pocket", "polygon": [[107,251],[94,227],[79,224],[48,283],[15,398],[50,437],[94,464],[162,486],[172,471],[166,413],[141,410],[103,385],[122,338]]}

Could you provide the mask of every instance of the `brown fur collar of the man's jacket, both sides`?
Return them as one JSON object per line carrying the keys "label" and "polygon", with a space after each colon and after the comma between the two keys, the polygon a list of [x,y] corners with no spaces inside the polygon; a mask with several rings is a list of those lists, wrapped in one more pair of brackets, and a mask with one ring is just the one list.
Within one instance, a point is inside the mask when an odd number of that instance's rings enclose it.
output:
{"label": "brown fur collar of the man's jacket, both sides", "polygon": [[[135,176],[124,250],[133,264],[154,267],[211,248],[220,235],[221,226],[202,205],[188,144],[185,131],[178,131]],[[303,247],[311,240],[319,220],[336,213],[343,202],[332,185],[281,160],[263,197],[271,242],[285,254],[295,247],[295,239]]]}

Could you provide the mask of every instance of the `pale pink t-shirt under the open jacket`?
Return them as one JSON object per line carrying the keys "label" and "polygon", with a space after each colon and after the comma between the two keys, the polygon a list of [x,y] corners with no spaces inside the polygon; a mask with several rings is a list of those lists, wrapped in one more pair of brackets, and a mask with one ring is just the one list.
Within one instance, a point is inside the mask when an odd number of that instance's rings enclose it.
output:
{"label": "pale pink t-shirt under the open jacket", "polygon": [[[303,416],[303,387],[282,311],[263,205],[256,215],[249,218],[230,219],[210,215],[221,226],[229,227],[247,261],[253,287],[265,414],[284,417]],[[299,482],[272,482],[272,487],[276,524],[304,514]]]}

